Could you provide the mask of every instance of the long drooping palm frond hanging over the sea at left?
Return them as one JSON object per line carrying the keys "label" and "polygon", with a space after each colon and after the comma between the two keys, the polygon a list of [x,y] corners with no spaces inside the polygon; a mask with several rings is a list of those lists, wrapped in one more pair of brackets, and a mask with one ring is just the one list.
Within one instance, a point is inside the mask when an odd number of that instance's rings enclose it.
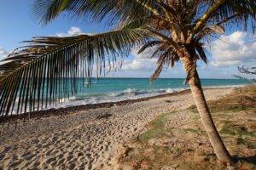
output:
{"label": "long drooping palm frond hanging over the sea at left", "polygon": [[[125,57],[142,29],[123,29],[76,37],[35,37],[0,65],[0,118],[38,111],[77,93],[78,77],[101,74]],[[83,79],[84,80],[84,79]],[[6,118],[4,119],[6,120]]]}

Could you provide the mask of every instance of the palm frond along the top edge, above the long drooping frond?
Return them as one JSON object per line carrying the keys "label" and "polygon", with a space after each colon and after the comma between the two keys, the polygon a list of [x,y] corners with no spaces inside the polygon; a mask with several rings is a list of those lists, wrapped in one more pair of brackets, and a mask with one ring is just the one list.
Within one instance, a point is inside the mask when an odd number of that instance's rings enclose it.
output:
{"label": "palm frond along the top edge, above the long drooping frond", "polygon": [[156,4],[156,0],[36,0],[32,10],[41,23],[48,23],[62,13],[94,21],[108,16],[109,21],[115,22],[157,14]]}

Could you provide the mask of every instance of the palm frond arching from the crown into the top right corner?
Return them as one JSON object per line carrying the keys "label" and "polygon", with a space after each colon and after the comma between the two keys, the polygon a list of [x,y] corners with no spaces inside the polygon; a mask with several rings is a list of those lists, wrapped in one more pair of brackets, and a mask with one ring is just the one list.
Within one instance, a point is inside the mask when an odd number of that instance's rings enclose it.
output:
{"label": "palm frond arching from the crown into the top right corner", "polygon": [[256,2],[254,0],[218,0],[208,1],[208,10],[194,26],[193,35],[207,25],[223,25],[255,31]]}

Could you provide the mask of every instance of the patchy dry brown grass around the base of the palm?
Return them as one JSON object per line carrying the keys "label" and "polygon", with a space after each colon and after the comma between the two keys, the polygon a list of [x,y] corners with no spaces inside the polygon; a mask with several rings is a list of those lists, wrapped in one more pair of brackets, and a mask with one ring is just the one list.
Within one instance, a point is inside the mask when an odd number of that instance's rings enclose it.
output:
{"label": "patchy dry brown grass around the base of the palm", "polygon": [[[255,168],[256,86],[237,88],[208,104],[225,145],[238,162],[236,167]],[[218,163],[195,106],[157,117],[126,147],[119,162],[131,169],[226,168]]]}

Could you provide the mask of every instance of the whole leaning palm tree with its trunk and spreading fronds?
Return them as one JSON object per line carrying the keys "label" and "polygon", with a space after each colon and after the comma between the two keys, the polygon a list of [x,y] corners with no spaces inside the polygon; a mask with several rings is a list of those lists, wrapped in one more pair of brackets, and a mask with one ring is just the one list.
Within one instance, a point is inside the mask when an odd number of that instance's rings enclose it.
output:
{"label": "whole leaning palm tree with its trunk and spreading fronds", "polygon": [[[28,111],[38,111],[56,99],[77,91],[76,77],[91,77],[113,68],[135,45],[138,53],[152,50],[158,59],[151,81],[164,65],[179,60],[187,73],[201,121],[218,159],[232,163],[228,150],[212,121],[201,88],[196,62],[207,63],[205,43],[229,27],[254,32],[255,0],[35,0],[34,14],[48,23],[60,14],[100,22],[108,20],[113,31],[76,37],[35,37],[9,54],[0,65],[1,120],[12,120]],[[67,88],[71,88],[67,90]],[[70,94],[71,93],[71,94]]]}

